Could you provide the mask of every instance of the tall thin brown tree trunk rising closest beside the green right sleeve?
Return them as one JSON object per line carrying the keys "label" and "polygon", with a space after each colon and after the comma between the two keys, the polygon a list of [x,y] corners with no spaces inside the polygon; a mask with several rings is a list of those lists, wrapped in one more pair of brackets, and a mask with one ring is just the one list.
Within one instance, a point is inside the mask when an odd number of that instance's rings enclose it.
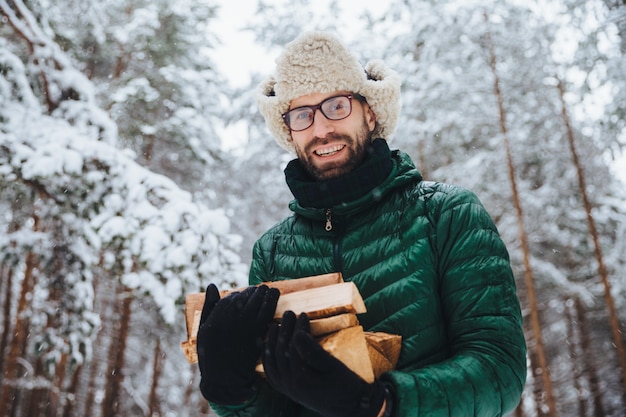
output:
{"label": "tall thin brown tree trunk rising closest beside the green right sleeve", "polygon": [[[488,16],[484,14],[485,22],[488,22]],[[511,152],[511,144],[509,143],[508,130],[506,125],[506,113],[504,111],[504,101],[502,98],[502,92],[500,90],[500,79],[496,69],[496,55],[491,41],[491,35],[489,32],[485,35],[487,48],[489,51],[489,64],[494,77],[494,93],[496,95],[498,103],[498,111],[500,115],[500,131],[504,139],[504,147],[506,152],[507,166],[509,168],[509,180],[511,182],[511,193],[513,198],[513,205],[515,206],[515,212],[517,214],[517,225],[519,230],[520,246],[522,249],[522,255],[524,259],[524,283],[526,285],[526,292],[528,296],[528,303],[530,305],[530,325],[535,339],[535,354],[537,355],[537,364],[541,368],[541,380],[543,382],[543,394],[545,404],[548,407],[549,415],[551,417],[557,416],[556,403],[554,401],[554,395],[552,390],[552,379],[550,377],[550,368],[548,367],[548,361],[546,359],[543,335],[541,332],[541,322],[539,319],[539,307],[537,305],[537,297],[535,295],[535,278],[533,276],[533,270],[530,265],[530,249],[528,246],[528,238],[526,236],[526,228],[524,226],[524,212],[522,210],[522,204],[517,190],[517,180],[515,174],[515,165],[513,163],[513,156]]]}

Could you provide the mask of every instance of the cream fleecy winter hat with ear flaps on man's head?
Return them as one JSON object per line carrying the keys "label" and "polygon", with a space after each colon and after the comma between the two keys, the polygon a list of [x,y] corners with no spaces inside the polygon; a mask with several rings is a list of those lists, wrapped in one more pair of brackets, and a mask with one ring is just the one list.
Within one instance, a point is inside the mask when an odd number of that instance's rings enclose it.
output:
{"label": "cream fleecy winter hat with ear flaps on man's head", "polygon": [[276,73],[257,89],[257,103],[276,142],[292,153],[291,132],[282,114],[291,100],[313,93],[350,91],[367,99],[376,114],[374,137],[389,141],[400,116],[400,78],[380,60],[365,65],[334,36],[307,32],[287,44]]}

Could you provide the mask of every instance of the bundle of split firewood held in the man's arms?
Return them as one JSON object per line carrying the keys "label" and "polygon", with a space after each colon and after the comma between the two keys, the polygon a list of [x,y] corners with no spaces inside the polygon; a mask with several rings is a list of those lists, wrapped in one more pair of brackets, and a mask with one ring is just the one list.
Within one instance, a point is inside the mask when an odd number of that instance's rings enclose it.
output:
{"label": "bundle of split firewood held in the man's arms", "polygon": [[[287,310],[296,315],[306,313],[311,320],[311,334],[324,350],[365,381],[372,382],[383,372],[395,368],[401,336],[363,331],[357,314],[365,313],[365,304],[356,285],[344,282],[340,273],[264,284],[280,291],[276,320],[279,321]],[[232,291],[222,291],[220,295],[224,297]],[[187,340],[181,345],[189,363],[198,361],[196,335],[204,298],[204,293],[196,293],[189,294],[185,300]],[[257,366],[257,371],[263,372],[262,364]]]}

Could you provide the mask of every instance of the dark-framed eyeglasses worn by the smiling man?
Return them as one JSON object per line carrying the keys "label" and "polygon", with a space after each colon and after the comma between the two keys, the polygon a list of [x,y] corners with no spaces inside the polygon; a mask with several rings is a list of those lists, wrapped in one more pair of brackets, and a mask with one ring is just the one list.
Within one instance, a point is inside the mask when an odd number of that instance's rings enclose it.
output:
{"label": "dark-framed eyeglasses worn by the smiling man", "polygon": [[315,121],[319,109],[328,120],[342,120],[352,113],[352,94],[329,97],[314,106],[302,106],[283,113],[283,120],[292,132],[308,129]]}

